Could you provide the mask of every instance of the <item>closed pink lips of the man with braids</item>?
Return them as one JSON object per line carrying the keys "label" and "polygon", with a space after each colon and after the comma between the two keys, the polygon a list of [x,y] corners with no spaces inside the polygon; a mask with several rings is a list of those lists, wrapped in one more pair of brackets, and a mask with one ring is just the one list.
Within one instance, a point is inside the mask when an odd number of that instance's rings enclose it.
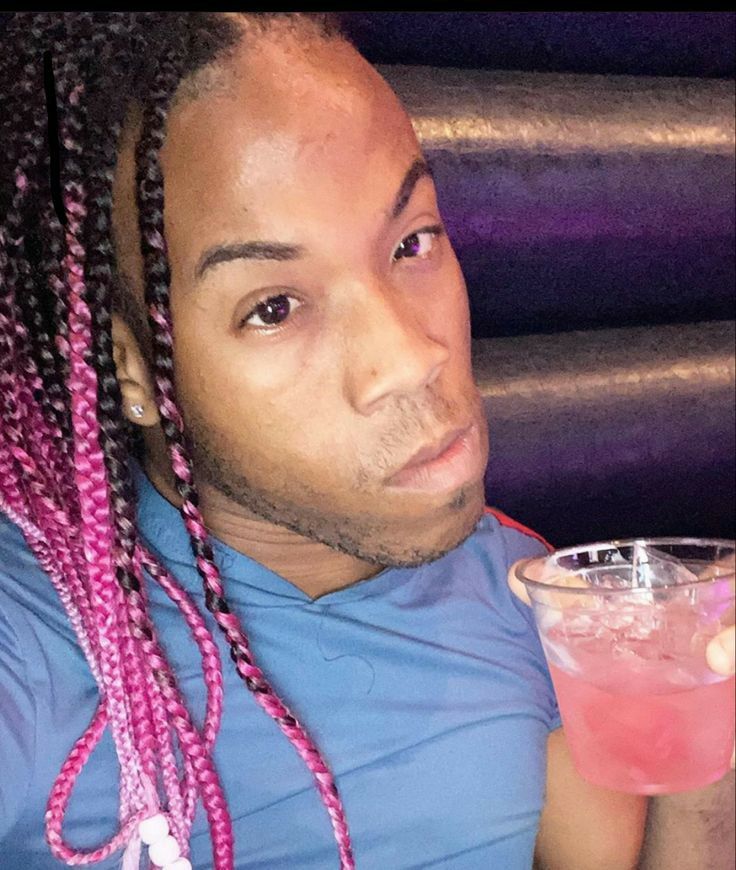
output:
{"label": "closed pink lips of the man with braids", "polygon": [[475,481],[484,471],[480,432],[472,424],[422,447],[388,478],[386,485],[392,489],[442,492]]}

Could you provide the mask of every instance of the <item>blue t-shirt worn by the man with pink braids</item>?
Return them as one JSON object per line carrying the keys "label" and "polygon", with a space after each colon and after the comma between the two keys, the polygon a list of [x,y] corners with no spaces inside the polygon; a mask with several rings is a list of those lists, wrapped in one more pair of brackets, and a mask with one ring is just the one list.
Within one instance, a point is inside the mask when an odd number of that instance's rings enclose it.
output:
{"label": "blue t-shirt worn by the man with pink braids", "polygon": [[[145,538],[202,604],[178,512],[143,476],[139,489]],[[335,775],[358,870],[529,870],[546,740],[560,720],[531,613],[510,593],[506,571],[542,545],[487,513],[442,559],[385,569],[316,600],[224,544],[215,542],[215,550],[256,661]],[[201,721],[198,651],[155,584],[150,601]],[[337,867],[311,773],[236,675],[219,630],[213,633],[225,687],[215,761],[236,867]],[[45,806],[96,701],[50,581],[19,530],[0,519],[0,867],[64,866],[44,841]],[[118,765],[106,734],[72,795],[67,841],[91,848],[107,839],[116,829],[117,797]],[[201,807],[191,847],[195,870],[210,868]],[[119,855],[97,866],[118,867]]]}

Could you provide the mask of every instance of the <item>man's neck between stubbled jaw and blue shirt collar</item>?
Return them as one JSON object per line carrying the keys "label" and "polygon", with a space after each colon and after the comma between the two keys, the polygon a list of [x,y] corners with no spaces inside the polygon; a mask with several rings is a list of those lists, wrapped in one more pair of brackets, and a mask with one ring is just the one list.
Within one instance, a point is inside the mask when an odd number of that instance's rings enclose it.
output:
{"label": "man's neck between stubbled jaw and blue shirt collar", "polygon": [[[178,492],[153,463],[146,464],[146,473],[161,495],[180,507]],[[382,570],[380,565],[264,520],[206,484],[199,487],[199,496],[211,535],[288,580],[310,598],[352,586]]]}

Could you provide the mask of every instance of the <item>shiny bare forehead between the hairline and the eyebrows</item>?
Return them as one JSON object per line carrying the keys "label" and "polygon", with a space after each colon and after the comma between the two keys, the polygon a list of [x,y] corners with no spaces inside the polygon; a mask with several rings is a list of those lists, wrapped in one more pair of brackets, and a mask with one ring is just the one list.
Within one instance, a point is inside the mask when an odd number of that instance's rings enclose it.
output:
{"label": "shiny bare forehead between the hairline and the eyebrows", "polygon": [[352,46],[286,33],[245,40],[206,94],[175,106],[161,159],[177,223],[197,202],[225,227],[244,211],[293,214],[316,189],[339,200],[392,164],[405,172],[417,151],[397,98]]}

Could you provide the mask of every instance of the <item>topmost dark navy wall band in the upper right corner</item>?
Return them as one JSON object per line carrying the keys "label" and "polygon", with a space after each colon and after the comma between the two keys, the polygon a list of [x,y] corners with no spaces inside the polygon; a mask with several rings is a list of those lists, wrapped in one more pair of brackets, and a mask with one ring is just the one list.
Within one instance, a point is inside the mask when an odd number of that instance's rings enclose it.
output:
{"label": "topmost dark navy wall band in the upper right corner", "polygon": [[733,12],[349,12],[374,63],[730,78]]}

